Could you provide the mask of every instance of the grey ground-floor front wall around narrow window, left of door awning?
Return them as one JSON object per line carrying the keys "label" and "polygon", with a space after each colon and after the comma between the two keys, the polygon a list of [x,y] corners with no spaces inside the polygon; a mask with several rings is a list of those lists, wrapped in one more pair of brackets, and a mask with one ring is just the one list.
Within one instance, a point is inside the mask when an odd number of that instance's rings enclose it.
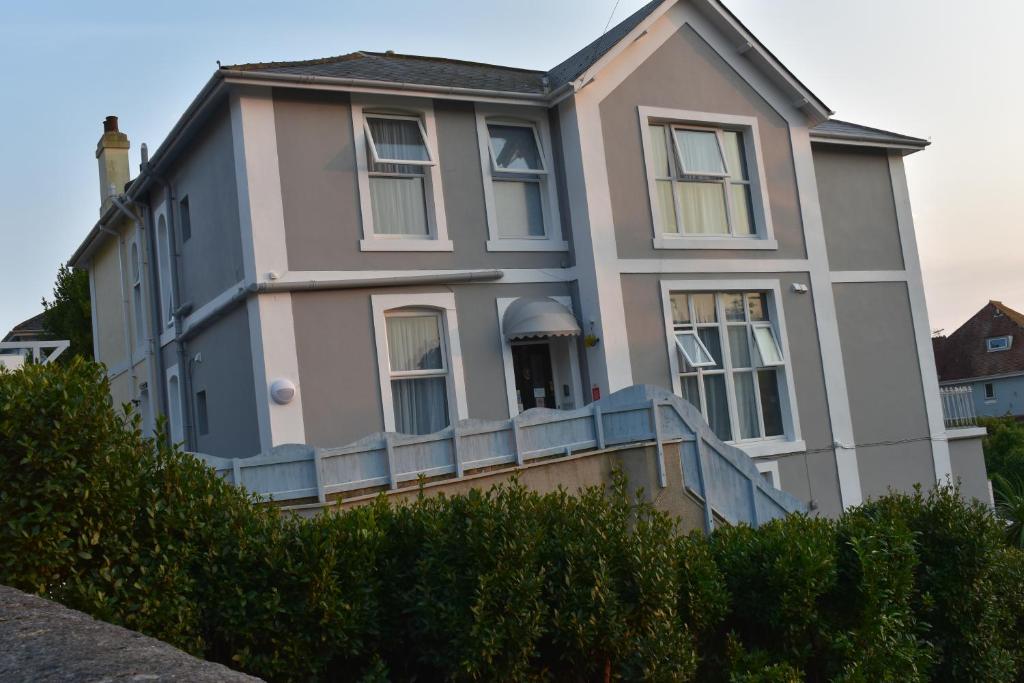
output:
{"label": "grey ground-floor front wall around narrow window, left of door awning", "polygon": [[462,285],[292,295],[306,442],[337,446],[383,431],[371,296],[455,292],[469,417],[508,418],[496,300],[569,296],[566,284]]}

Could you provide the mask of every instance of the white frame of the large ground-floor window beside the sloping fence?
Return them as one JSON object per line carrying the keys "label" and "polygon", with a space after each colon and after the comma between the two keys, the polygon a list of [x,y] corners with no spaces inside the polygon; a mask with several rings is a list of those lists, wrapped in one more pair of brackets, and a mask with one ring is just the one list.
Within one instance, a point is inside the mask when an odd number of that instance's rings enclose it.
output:
{"label": "white frame of the large ground-floor window beside the sloping fence", "polygon": [[[782,288],[777,280],[663,280],[662,283],[662,311],[665,318],[665,339],[666,349],[669,353],[669,372],[672,379],[672,390],[676,395],[681,396],[682,382],[679,375],[682,372],[679,362],[679,350],[675,341],[675,328],[672,315],[672,294],[699,294],[715,292],[764,292],[768,295],[767,305],[769,306],[771,321],[767,325],[774,328],[775,339],[778,342],[779,350],[782,353],[782,364],[771,366],[778,368],[782,373],[782,380],[785,386],[779,391],[781,400],[781,413],[783,423],[783,434],[780,436],[769,436],[757,439],[730,440],[738,449],[741,449],[752,458],[761,456],[776,456],[786,453],[801,453],[807,450],[807,444],[803,440],[800,428],[800,411],[797,405],[796,382],[793,374],[793,354],[790,352],[790,339],[786,333],[785,312],[782,306]],[[726,335],[727,337],[727,335]],[[753,353],[752,349],[752,353]],[[722,368],[725,372],[725,391],[729,399],[729,421],[735,426],[738,424],[736,415],[735,387],[732,379],[732,357],[729,352],[728,340],[722,340]],[[697,407],[697,410],[700,410]],[[760,417],[759,417],[760,419]]]}

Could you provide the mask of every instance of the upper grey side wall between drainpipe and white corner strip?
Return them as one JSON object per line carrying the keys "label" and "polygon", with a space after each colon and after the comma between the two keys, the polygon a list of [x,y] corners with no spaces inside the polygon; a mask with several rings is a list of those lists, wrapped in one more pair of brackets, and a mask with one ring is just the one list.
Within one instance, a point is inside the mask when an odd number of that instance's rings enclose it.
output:
{"label": "upper grey side wall between drainpipe and white corner strip", "polygon": [[[177,199],[188,197],[191,238],[184,242],[175,232],[175,240],[181,302],[190,303],[193,310],[244,278],[231,119],[226,105],[203,130],[169,174]],[[177,211],[175,207],[179,220]]]}

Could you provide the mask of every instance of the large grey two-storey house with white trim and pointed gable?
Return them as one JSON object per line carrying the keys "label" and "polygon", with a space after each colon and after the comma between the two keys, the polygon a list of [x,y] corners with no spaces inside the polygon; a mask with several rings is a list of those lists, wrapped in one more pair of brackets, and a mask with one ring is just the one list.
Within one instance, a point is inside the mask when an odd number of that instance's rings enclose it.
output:
{"label": "large grey two-storey house with white trim and pointed gable", "polygon": [[219,457],[662,387],[824,514],[959,477],[903,158],[717,0],[549,71],[393,52],[218,69],[129,178],[110,117],[95,356]]}

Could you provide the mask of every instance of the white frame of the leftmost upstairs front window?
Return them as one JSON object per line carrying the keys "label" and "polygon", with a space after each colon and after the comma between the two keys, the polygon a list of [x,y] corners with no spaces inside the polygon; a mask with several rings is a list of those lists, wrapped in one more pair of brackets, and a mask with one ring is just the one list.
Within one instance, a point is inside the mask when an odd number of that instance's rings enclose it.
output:
{"label": "white frame of the leftmost upstairs front window", "polygon": [[[413,252],[450,252],[455,247],[447,236],[447,220],[444,214],[444,194],[441,185],[441,169],[438,157],[437,126],[434,120],[433,103],[429,99],[414,97],[369,97],[352,93],[352,141],[355,145],[355,168],[358,177],[359,216],[362,225],[362,239],[359,240],[359,251],[413,251]],[[371,147],[371,156],[367,147],[373,136],[369,134],[370,118],[382,119],[415,119],[420,123],[420,132],[427,145],[429,162],[408,162],[395,160],[378,160],[377,147]],[[374,231],[374,212],[370,200],[370,163],[401,164],[402,166],[423,166],[424,188],[426,199],[427,230],[425,237],[406,234],[377,234]]]}

